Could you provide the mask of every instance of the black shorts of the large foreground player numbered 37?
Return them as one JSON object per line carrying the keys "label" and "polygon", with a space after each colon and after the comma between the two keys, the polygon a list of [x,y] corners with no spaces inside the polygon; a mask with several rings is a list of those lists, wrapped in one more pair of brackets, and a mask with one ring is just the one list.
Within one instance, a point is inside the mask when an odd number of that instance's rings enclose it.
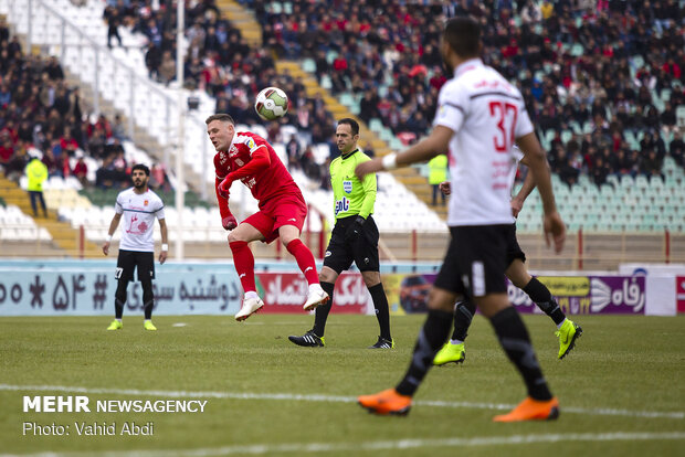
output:
{"label": "black shorts of the large foreground player numbered 37", "polygon": [[435,287],[467,298],[506,293],[504,272],[512,225],[450,227],[452,241]]}

